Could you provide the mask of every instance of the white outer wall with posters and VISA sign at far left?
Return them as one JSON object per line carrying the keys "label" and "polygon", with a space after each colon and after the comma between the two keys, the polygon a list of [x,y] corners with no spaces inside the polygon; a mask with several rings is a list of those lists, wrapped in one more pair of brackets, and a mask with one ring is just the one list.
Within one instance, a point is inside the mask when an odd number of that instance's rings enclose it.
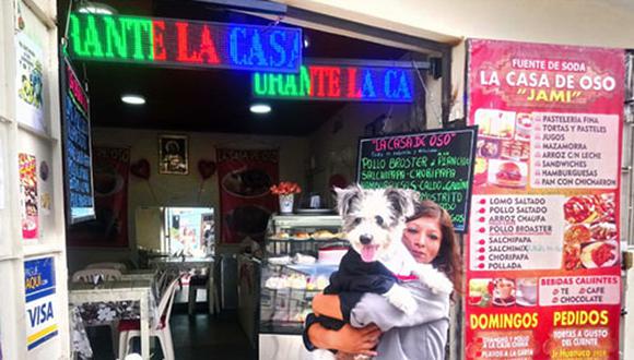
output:
{"label": "white outer wall with posters and VISA sign at far left", "polygon": [[[54,0],[0,1],[0,288],[3,296],[0,358],[3,359],[70,358],[55,9]],[[31,64],[38,64],[40,71],[30,69]],[[40,96],[37,96],[38,88]],[[39,98],[42,103],[30,98]],[[21,194],[24,171],[19,167],[19,154],[23,153],[35,157],[33,176],[25,172],[33,184],[27,190],[30,195]],[[47,163],[48,176],[42,176],[42,161]],[[37,236],[31,239],[24,236],[22,221],[26,217],[27,200],[35,205],[32,209],[37,208],[36,215],[31,214],[35,215]],[[47,266],[32,266],[25,272],[25,262],[37,259],[52,260],[50,272],[45,269]],[[30,290],[36,296],[27,299]]]}

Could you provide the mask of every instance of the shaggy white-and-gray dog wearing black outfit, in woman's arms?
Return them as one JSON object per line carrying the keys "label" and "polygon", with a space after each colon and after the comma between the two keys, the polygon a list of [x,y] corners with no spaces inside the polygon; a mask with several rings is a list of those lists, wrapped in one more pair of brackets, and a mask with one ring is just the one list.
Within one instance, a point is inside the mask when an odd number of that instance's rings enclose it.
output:
{"label": "shaggy white-and-gray dog wearing black outfit, in woman's arms", "polygon": [[[418,304],[399,278],[416,277],[432,292],[450,293],[451,281],[430,264],[419,264],[402,242],[406,219],[413,215],[419,194],[410,190],[364,190],[360,185],[338,189],[337,206],[343,218],[343,232],[353,251],[349,251],[330,277],[324,293],[347,291],[383,295],[406,314]],[[356,254],[355,254],[356,253]],[[412,276],[413,275],[413,276]],[[328,325],[319,320],[322,326]],[[312,359],[334,359],[329,350],[316,349]],[[355,356],[354,359],[367,359]]]}

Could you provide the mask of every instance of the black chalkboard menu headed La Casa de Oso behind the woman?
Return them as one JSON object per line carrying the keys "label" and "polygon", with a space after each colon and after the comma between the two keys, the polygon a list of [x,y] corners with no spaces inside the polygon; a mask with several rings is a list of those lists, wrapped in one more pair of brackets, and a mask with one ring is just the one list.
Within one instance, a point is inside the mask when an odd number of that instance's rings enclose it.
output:
{"label": "black chalkboard menu headed La Casa de Oso behind the woman", "polygon": [[477,128],[364,137],[356,182],[365,189],[401,188],[446,208],[458,232],[467,229]]}

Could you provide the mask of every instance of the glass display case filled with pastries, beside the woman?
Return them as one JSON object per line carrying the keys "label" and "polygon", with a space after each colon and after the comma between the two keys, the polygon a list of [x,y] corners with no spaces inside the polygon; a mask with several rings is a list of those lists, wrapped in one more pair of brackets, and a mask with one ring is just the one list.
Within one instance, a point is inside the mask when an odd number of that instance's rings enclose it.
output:
{"label": "glass display case filled with pastries, beside the woman", "polygon": [[348,251],[339,215],[273,215],[260,276],[260,334],[301,334],[310,300]]}

